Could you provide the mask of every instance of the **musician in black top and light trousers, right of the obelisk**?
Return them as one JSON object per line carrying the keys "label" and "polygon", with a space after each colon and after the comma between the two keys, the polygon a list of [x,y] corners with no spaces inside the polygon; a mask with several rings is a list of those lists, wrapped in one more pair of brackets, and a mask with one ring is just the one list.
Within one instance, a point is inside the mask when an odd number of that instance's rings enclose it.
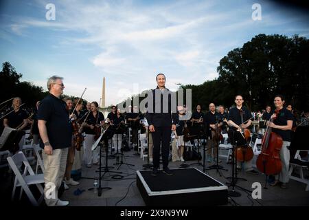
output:
{"label": "musician in black top and light trousers, right of the obelisk", "polygon": [[122,148],[122,134],[124,133],[124,116],[120,113],[120,110],[117,109],[117,115],[113,120],[113,147],[120,151]]}

